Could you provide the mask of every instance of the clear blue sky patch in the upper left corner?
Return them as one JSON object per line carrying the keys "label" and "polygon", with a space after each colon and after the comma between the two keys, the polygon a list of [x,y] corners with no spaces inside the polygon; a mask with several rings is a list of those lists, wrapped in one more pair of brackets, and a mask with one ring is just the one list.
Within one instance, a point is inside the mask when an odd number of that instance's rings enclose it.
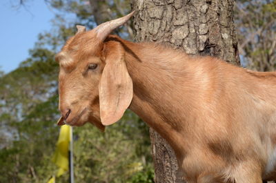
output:
{"label": "clear blue sky patch in the upper left corner", "polygon": [[5,73],[28,57],[38,34],[50,30],[50,19],[55,16],[43,0],[28,1],[26,8],[19,9],[13,7],[17,5],[15,2],[0,2],[0,70]]}

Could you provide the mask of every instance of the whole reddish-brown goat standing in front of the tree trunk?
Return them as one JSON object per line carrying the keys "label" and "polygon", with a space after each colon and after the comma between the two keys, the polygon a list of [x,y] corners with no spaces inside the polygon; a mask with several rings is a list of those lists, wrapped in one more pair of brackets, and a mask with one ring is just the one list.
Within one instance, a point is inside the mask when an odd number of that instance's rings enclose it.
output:
{"label": "whole reddish-brown goat standing in front of the tree trunk", "polygon": [[103,130],[130,108],[172,146],[187,182],[276,180],[276,73],[109,35],[132,14],[78,26],[57,54],[58,124]]}

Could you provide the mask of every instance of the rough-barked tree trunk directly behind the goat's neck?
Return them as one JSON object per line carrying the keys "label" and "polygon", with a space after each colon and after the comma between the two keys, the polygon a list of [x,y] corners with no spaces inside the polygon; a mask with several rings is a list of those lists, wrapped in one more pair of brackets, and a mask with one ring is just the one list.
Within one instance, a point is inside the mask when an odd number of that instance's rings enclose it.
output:
{"label": "rough-barked tree trunk directly behind the goat's neck", "polygon": [[[131,0],[135,41],[158,41],[191,55],[211,55],[239,65],[234,0]],[[150,50],[149,50],[150,51]],[[184,182],[175,154],[150,129],[155,183]]]}

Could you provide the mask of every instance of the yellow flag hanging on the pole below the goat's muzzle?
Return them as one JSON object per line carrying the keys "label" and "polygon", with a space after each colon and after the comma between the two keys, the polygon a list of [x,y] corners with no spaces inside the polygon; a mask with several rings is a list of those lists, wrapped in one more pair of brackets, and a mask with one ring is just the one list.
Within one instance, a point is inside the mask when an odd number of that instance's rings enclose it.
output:
{"label": "yellow flag hanging on the pole below the goat's muzzle", "polygon": [[70,126],[63,125],[63,126],[61,126],[61,130],[59,133],[59,139],[57,141],[57,148],[55,151],[55,155],[52,159],[52,161],[57,166],[59,166],[59,171],[57,171],[57,177],[62,175],[64,172],[68,171],[69,143],[70,143]]}

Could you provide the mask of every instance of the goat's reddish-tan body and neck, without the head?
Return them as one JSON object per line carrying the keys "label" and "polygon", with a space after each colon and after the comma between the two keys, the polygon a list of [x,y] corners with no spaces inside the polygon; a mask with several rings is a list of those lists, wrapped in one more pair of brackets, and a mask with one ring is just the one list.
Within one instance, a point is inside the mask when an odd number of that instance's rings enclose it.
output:
{"label": "goat's reddish-tan body and neck, without the head", "polygon": [[276,180],[276,73],[119,41],[130,109],[174,148],[188,182]]}

